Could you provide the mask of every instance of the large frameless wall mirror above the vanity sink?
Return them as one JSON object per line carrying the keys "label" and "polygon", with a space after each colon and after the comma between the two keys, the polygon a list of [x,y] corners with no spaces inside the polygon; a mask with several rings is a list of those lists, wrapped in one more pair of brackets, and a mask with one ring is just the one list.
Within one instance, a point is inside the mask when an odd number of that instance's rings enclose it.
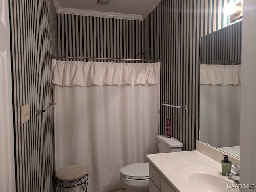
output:
{"label": "large frameless wall mirror above the vanity sink", "polygon": [[242,21],[200,38],[199,139],[240,157]]}

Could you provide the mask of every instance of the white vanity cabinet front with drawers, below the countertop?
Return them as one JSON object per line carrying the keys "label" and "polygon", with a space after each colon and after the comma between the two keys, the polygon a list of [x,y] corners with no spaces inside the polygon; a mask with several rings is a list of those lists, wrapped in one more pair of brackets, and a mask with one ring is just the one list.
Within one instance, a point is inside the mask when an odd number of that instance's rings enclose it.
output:
{"label": "white vanity cabinet front with drawers, below the countertop", "polygon": [[149,164],[149,177],[149,192],[175,192],[152,163]]}

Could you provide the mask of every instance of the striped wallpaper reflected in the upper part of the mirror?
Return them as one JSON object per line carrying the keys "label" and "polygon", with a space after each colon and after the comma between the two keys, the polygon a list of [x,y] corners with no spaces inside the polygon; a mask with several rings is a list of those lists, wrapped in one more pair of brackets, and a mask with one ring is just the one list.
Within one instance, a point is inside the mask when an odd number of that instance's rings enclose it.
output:
{"label": "striped wallpaper reflected in the upper part of the mirror", "polygon": [[[200,39],[201,61],[241,61],[242,21],[215,31]],[[212,63],[235,65],[238,63]]]}

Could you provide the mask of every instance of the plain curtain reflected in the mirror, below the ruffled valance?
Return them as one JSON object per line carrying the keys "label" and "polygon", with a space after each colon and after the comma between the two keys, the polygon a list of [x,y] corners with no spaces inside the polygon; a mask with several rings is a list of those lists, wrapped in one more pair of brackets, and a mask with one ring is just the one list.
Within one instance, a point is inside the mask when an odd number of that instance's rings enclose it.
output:
{"label": "plain curtain reflected in the mirror, below the ruffled valance", "polygon": [[240,86],[200,85],[200,127],[214,147],[240,145]]}

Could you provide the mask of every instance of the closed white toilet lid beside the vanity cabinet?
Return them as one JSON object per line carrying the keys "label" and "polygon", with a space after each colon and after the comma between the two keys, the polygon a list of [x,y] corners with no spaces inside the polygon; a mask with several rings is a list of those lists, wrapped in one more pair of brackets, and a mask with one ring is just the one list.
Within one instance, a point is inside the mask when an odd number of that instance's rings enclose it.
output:
{"label": "closed white toilet lid beside the vanity cabinet", "polygon": [[149,163],[134,163],[120,170],[121,176],[130,179],[149,179]]}

